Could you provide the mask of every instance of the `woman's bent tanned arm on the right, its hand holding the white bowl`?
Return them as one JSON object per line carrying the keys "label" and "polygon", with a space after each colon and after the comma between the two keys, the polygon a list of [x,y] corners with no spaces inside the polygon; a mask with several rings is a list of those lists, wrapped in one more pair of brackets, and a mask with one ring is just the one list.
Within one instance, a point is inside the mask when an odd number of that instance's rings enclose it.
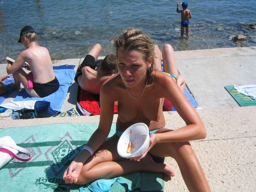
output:
{"label": "woman's bent tanned arm on the right, its hand holding the white bowl", "polygon": [[[135,160],[142,159],[147,152],[157,143],[162,142],[186,142],[206,137],[205,126],[196,110],[189,103],[176,81],[165,73],[155,73],[156,88],[151,95],[157,95],[158,98],[167,98],[171,101],[181,118],[185,121],[186,126],[174,131],[165,131],[150,135],[150,145],[147,151]],[[161,109],[159,109],[161,110]]]}

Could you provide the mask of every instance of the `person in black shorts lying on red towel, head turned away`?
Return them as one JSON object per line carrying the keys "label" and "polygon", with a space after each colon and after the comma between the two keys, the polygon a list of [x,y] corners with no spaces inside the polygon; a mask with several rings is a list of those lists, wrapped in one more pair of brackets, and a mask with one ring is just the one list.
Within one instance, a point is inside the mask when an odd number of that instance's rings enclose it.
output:
{"label": "person in black shorts lying on red towel, head turned away", "polygon": [[101,45],[99,43],[93,45],[78,67],[74,78],[83,90],[97,95],[100,94],[101,85],[114,75],[117,65],[117,56],[109,54],[102,60],[100,69],[96,71],[96,61],[100,51]]}

